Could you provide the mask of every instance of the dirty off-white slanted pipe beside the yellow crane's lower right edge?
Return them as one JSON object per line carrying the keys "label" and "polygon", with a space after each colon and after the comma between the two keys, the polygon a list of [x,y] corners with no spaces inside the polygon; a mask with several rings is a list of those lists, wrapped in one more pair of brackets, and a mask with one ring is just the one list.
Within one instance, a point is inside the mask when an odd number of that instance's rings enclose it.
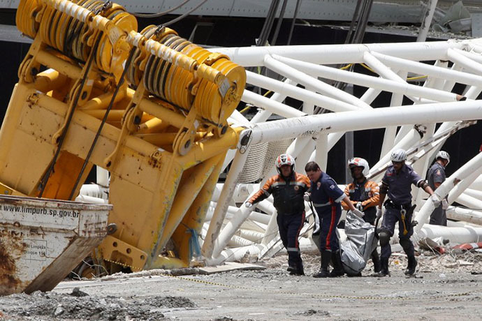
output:
{"label": "dirty off-white slanted pipe beside the yellow crane's lower right edge", "polygon": [[209,258],[212,256],[212,251],[214,250],[214,240],[217,239],[219,235],[219,230],[221,230],[221,225],[224,221],[224,216],[226,216],[226,211],[228,209],[228,200],[231,198],[231,195],[233,195],[233,191],[236,187],[236,182],[238,181],[239,174],[242,171],[248,154],[249,147],[247,147],[247,150],[244,151],[243,154],[241,154],[239,150],[236,152],[236,156],[233,160],[233,164],[231,165],[231,169],[228,172],[226,181],[224,182],[221,195],[219,195],[217,207],[214,210],[210,227],[209,230],[207,230],[207,234],[203,243],[202,251],[204,257]]}

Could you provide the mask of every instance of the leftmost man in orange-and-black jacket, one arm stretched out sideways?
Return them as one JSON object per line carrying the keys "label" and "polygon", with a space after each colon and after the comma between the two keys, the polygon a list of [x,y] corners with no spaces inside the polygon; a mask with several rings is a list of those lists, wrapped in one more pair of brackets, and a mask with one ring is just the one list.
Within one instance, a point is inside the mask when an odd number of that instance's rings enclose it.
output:
{"label": "leftmost man in orange-and-black jacket, one arm stretched out sideways", "polygon": [[273,195],[279,236],[288,251],[288,271],[292,275],[305,275],[298,236],[305,223],[304,195],[309,188],[309,179],[295,172],[295,159],[289,154],[278,156],[276,169],[279,174],[268,179],[263,188],[246,202],[246,207]]}

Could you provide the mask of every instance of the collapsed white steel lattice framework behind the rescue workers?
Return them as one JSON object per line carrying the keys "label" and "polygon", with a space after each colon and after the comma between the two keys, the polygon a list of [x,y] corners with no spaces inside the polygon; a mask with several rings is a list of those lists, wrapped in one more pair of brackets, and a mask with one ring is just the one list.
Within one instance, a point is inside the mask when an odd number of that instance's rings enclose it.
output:
{"label": "collapsed white steel lattice framework behind the rescue workers", "polygon": [[[272,200],[264,200],[251,211],[242,206],[260,184],[275,174],[273,157],[280,151],[295,156],[299,165],[315,160],[326,169],[328,151],[351,130],[384,128],[380,160],[370,176],[381,179],[390,151],[409,151],[409,163],[421,174],[428,170],[434,155],[447,137],[482,118],[482,43],[480,39],[448,40],[430,43],[390,43],[370,45],[303,45],[277,47],[215,48],[244,67],[267,68],[275,77],[247,71],[247,83],[272,91],[267,98],[245,90],[242,100],[258,107],[248,120],[235,112],[230,121],[246,129],[240,135],[238,150],[228,153],[224,167],[231,162],[224,184],[218,184],[203,230],[203,256],[207,262],[239,260],[249,253],[258,257],[277,253],[282,248],[277,237],[276,211]],[[434,61],[427,64],[426,61]],[[365,64],[376,75],[364,75],[335,66]],[[280,77],[281,76],[281,77]],[[419,86],[407,81],[418,77]],[[282,78],[283,80],[279,80]],[[413,78],[411,78],[413,79]],[[337,89],[333,82],[367,88],[360,98]],[[462,95],[454,94],[455,83],[465,85]],[[300,85],[300,86],[298,86]],[[304,88],[302,88],[304,87]],[[382,92],[392,94],[390,105],[372,108]],[[406,96],[411,100],[403,105]],[[286,98],[302,101],[302,109],[291,107]],[[313,114],[317,107],[330,113]],[[284,119],[267,121],[271,115]],[[440,126],[437,127],[437,124]],[[283,144],[284,143],[284,144]],[[286,148],[287,146],[287,148]],[[262,156],[265,156],[263,159]],[[363,156],[363,155],[361,155]],[[253,162],[252,159],[257,161]],[[251,161],[250,161],[251,160]],[[340,166],[346,160],[330,159]],[[271,166],[270,166],[271,165]],[[260,167],[268,167],[260,170]],[[252,172],[257,177],[245,176]],[[448,217],[460,220],[449,227],[428,225],[432,202],[426,194],[412,191],[418,205],[416,238],[442,236],[453,242],[479,241],[482,237],[482,153],[474,155],[436,191],[448,195]],[[249,175],[248,175],[249,176]],[[262,185],[261,185],[262,186]],[[235,206],[238,204],[238,206]],[[311,214],[309,207],[307,215]],[[464,222],[476,225],[465,225]],[[302,230],[305,237],[308,227]],[[312,247],[309,238],[302,244]]]}

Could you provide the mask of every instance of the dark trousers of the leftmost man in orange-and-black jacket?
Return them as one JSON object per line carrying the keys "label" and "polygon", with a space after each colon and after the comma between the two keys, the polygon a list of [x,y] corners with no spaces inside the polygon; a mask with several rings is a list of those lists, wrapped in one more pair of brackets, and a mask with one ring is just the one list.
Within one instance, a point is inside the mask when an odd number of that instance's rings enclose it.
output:
{"label": "dark trousers of the leftmost man in orange-and-black jacket", "polygon": [[301,227],[305,223],[305,212],[295,215],[278,214],[277,217],[279,236],[283,245],[288,251],[288,265],[290,267],[298,267],[301,264],[300,244],[298,237],[300,236]]}

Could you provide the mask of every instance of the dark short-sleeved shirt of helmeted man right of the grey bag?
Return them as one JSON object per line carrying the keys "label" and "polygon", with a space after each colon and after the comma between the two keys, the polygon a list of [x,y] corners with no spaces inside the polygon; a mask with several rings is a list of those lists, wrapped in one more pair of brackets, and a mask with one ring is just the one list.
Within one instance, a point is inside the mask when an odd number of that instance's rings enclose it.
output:
{"label": "dark short-sleeved shirt of helmeted man right of the grey bag", "polygon": [[398,205],[408,204],[411,202],[411,184],[418,186],[423,181],[410,165],[403,165],[400,172],[393,165],[388,166],[381,182],[388,185],[388,197],[392,202]]}

